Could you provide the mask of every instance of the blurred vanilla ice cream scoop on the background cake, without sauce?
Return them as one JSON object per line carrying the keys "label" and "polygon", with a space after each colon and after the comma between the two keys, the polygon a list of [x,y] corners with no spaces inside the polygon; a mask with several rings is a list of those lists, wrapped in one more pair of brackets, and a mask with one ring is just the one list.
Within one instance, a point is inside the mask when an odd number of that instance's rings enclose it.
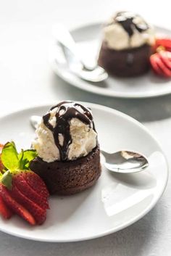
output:
{"label": "blurred vanilla ice cream scoop on the background cake, without sauce", "polygon": [[[139,26],[143,26],[146,24],[143,18],[138,15],[135,15],[135,17],[133,17],[133,22]],[[107,43],[109,49],[114,49],[118,51],[139,47],[143,44],[153,45],[155,42],[154,28],[149,25],[149,28],[147,30],[139,32],[134,27],[133,35],[129,36],[129,34],[122,27],[120,22],[117,22],[117,20],[114,20],[113,18],[110,19],[108,25],[104,27],[104,41]]]}

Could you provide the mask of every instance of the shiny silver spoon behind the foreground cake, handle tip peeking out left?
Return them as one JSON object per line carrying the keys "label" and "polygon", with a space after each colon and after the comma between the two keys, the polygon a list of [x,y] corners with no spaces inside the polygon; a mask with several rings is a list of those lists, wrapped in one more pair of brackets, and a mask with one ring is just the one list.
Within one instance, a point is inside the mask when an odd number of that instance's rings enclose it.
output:
{"label": "shiny silver spoon behind the foreground cake, handle tip peeking out left", "polygon": [[[30,117],[30,124],[34,129],[38,128],[39,123],[41,123],[40,116],[32,115]],[[145,170],[149,166],[146,157],[137,152],[122,150],[108,153],[101,150],[101,154],[103,154],[105,158],[104,166],[114,173],[137,173],[141,170]]]}

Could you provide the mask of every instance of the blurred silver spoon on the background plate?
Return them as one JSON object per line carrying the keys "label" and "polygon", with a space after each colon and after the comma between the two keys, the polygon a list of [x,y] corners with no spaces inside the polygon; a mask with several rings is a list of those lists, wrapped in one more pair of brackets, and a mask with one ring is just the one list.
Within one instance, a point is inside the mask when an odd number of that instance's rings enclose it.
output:
{"label": "blurred silver spoon on the background plate", "polygon": [[75,73],[75,75],[78,75],[81,79],[90,82],[101,82],[107,79],[108,74],[104,68],[99,67],[98,65],[89,67],[82,59],[80,59],[78,47],[70,32],[64,28],[63,25],[55,25],[53,28],[53,35],[57,44],[62,48],[64,57],[67,60],[67,65],[72,73]]}

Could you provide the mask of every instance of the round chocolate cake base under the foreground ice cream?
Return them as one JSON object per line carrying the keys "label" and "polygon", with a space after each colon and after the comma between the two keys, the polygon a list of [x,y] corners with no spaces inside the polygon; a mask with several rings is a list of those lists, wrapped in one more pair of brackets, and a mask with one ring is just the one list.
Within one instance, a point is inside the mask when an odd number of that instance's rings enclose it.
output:
{"label": "round chocolate cake base under the foreground ice cream", "polygon": [[30,169],[43,179],[50,194],[75,194],[93,186],[101,175],[99,146],[73,161],[44,162],[36,157]]}

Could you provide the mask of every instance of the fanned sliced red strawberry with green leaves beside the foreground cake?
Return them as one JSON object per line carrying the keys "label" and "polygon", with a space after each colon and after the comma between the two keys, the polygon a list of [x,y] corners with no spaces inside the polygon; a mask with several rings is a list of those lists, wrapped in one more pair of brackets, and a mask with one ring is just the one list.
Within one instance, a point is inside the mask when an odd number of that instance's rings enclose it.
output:
{"label": "fanned sliced red strawberry with green leaves beside the foreground cake", "polygon": [[49,191],[42,179],[29,169],[29,162],[36,155],[32,149],[18,153],[13,141],[4,145],[1,152],[4,169],[0,173],[0,213],[4,218],[16,213],[31,225],[46,220]]}

